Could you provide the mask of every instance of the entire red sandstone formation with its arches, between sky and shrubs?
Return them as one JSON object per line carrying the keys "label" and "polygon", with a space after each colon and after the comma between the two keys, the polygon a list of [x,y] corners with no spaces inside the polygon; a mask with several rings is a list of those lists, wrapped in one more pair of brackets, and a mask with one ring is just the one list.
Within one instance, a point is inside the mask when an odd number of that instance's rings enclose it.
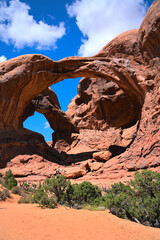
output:
{"label": "entire red sandstone formation with its arches, between sky and shrubs", "polygon": [[[39,156],[36,162],[45,162],[45,166],[62,164],[62,173],[64,163],[74,163],[75,173],[74,165],[73,171],[69,168],[66,173],[74,178],[123,178],[144,168],[158,171],[159,19],[160,1],[155,0],[139,30],[121,34],[93,57],[54,62],[42,55],[26,55],[0,63],[0,167],[11,167],[16,158],[18,171],[22,169],[18,156],[27,154],[29,159]],[[64,114],[48,87],[75,77],[85,78]],[[59,121],[52,126],[56,130],[54,148],[40,134],[23,128],[24,119],[35,110],[44,114],[51,126],[53,119]],[[27,167],[32,160],[25,161]],[[83,161],[89,161],[85,170],[80,167]],[[54,164],[50,168],[55,171]],[[37,169],[29,175],[38,175]]]}

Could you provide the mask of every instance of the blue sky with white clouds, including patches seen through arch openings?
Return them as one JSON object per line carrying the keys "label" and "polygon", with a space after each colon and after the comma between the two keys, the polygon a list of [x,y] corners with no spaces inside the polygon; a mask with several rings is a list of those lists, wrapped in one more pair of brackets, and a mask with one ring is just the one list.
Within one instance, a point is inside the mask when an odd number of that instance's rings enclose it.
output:
{"label": "blue sky with white clouds, including patches seen through arch openings", "polygon": [[[139,28],[152,0],[0,0],[0,61],[43,54],[57,61],[92,56],[120,33]],[[52,87],[66,111],[79,78]],[[52,129],[39,113],[24,127],[51,141]]]}

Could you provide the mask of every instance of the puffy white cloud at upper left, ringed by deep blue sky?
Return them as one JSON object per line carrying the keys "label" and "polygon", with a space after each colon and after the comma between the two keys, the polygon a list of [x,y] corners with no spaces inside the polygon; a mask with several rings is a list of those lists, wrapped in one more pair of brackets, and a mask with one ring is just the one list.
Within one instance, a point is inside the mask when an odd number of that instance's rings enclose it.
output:
{"label": "puffy white cloud at upper left, ringed by deep blue sky", "polygon": [[65,34],[64,23],[59,26],[36,22],[29,15],[30,7],[19,0],[0,2],[0,39],[21,49],[25,46],[37,49],[56,48],[56,41]]}

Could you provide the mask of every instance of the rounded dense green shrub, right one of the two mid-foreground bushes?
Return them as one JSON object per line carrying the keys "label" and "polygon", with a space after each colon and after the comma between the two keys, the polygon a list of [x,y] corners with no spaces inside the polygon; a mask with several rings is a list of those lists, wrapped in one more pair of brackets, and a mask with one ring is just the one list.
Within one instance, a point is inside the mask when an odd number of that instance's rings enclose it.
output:
{"label": "rounded dense green shrub, right one of the two mid-foreground bushes", "polygon": [[90,182],[84,181],[80,184],[75,183],[72,187],[72,199],[75,203],[92,204],[96,198],[101,197],[101,190]]}

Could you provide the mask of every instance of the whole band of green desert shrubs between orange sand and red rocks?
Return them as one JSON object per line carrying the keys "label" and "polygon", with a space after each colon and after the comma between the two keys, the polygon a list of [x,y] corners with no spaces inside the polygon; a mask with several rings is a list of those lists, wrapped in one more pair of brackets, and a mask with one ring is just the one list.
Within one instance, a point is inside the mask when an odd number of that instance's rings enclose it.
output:
{"label": "whole band of green desert shrubs between orange sand and red rocks", "polygon": [[[10,170],[6,172],[2,182],[8,189],[17,184]],[[0,191],[1,201],[9,197],[7,191]],[[18,203],[38,203],[42,208],[55,208],[58,204],[76,209],[108,208],[120,218],[160,227],[160,173],[152,171],[136,172],[134,179],[127,184],[120,182],[105,188],[104,196],[101,190],[90,182],[71,184],[70,180],[62,175],[46,179],[38,187],[24,183],[20,187],[13,186],[11,191],[22,196]]]}

